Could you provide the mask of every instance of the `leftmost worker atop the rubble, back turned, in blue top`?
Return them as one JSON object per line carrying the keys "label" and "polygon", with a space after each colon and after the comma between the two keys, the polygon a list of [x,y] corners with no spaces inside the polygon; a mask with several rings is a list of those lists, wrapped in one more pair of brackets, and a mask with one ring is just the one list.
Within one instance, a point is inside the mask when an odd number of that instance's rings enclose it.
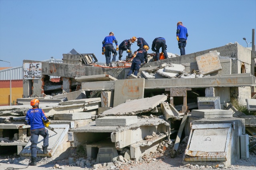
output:
{"label": "leftmost worker atop the rubble, back turned, in blue top", "polygon": [[[117,49],[115,49],[113,47],[113,42],[115,42],[115,45],[117,45]],[[105,37],[105,39],[102,42],[102,46],[103,46],[102,55],[104,55],[104,53],[105,53],[106,64],[107,64],[107,66],[109,66],[110,59],[111,59],[110,52],[112,52],[114,54],[112,61],[115,62],[115,57],[117,56],[117,51],[118,51],[117,40],[115,39],[113,32],[110,32],[109,36]]]}

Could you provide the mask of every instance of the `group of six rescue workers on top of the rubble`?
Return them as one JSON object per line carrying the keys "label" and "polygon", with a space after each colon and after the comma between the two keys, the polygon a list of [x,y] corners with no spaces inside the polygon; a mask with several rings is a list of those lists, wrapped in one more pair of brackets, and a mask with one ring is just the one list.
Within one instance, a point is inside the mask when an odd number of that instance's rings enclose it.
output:
{"label": "group of six rescue workers on top of the rubble", "polygon": [[[178,41],[178,47],[180,49],[180,55],[185,55],[185,46],[187,44],[188,34],[187,34],[187,28],[183,26],[182,22],[180,21],[177,23],[176,36]],[[117,46],[116,49],[113,46],[113,42],[115,42],[115,45]],[[147,63],[147,50],[149,49],[149,45],[143,38],[133,37],[129,40],[124,40],[118,46],[114,33],[110,32],[109,36],[105,37],[105,39],[102,42],[102,45],[103,45],[102,55],[105,54],[107,66],[109,66],[111,62],[115,62],[117,51],[119,51],[119,57],[118,57],[119,60],[121,60],[123,56],[122,55],[123,51],[127,51],[128,57],[131,58],[133,56],[131,51],[131,44],[134,42],[137,42],[137,46],[139,46],[139,49],[137,49],[137,51],[134,51],[134,54],[137,53],[136,55],[137,58],[135,57],[133,59],[130,72],[132,73],[133,71],[135,71],[134,75],[137,75],[137,71],[139,70],[138,68],[140,68],[141,63],[143,63],[144,60]],[[158,37],[158,38],[155,38],[152,42],[151,50],[155,52],[156,61],[158,61],[160,57],[160,53],[159,53],[160,48],[162,49],[164,58],[167,59],[168,58],[167,52],[166,52],[167,45],[165,43],[165,38]],[[111,52],[113,53],[112,61],[111,61]],[[131,74],[130,72],[128,73],[128,75]]]}

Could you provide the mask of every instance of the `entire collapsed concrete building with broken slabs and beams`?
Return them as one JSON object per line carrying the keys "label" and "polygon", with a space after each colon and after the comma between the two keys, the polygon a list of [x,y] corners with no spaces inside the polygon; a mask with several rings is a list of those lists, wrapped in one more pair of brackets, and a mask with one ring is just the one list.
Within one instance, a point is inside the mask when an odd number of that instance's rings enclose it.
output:
{"label": "entire collapsed concrete building with broken slabs and beams", "polygon": [[[184,164],[229,166],[248,158],[246,132],[256,132],[256,117],[231,105],[232,98],[246,105],[254,95],[254,57],[255,51],[230,43],[145,63],[139,78],[129,79],[125,64],[100,67],[85,54],[63,55],[66,63],[24,60],[31,68],[40,65],[40,78],[23,80],[20,105],[0,107],[0,147],[17,146],[17,154],[30,155],[30,126],[22,120],[36,97],[54,128],[48,153],[38,144],[38,156],[61,159],[82,145],[96,163],[139,160],[173,139],[175,157],[180,140],[189,136]],[[61,81],[49,84],[50,76]]]}

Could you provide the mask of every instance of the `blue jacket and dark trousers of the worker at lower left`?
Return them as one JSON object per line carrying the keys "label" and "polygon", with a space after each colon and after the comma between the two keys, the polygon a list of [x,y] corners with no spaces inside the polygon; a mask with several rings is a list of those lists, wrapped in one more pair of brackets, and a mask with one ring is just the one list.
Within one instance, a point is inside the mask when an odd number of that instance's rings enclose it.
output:
{"label": "blue jacket and dark trousers of the worker at lower left", "polygon": [[31,156],[34,158],[36,158],[36,145],[38,143],[39,135],[44,138],[43,147],[47,147],[49,145],[49,134],[48,130],[44,128],[43,121],[47,123],[48,119],[42,109],[35,107],[28,110],[25,118],[25,124],[30,125]]}

